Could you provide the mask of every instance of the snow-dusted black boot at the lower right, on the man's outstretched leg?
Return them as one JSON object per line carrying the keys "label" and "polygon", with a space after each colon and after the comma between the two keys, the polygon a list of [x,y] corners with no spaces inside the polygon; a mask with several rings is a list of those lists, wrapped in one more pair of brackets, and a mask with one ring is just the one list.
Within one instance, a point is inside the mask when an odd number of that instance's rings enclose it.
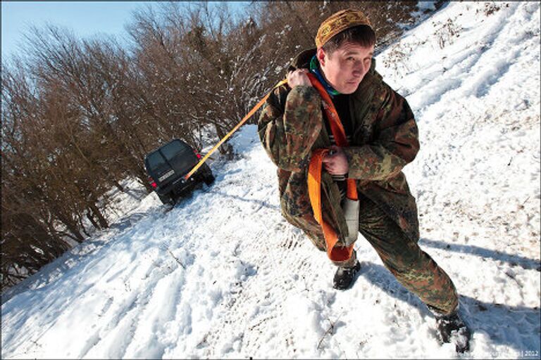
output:
{"label": "snow-dusted black boot at the lower right, on the man's outstretched leg", "polygon": [[437,336],[441,342],[452,342],[456,352],[463,353],[470,349],[471,333],[466,323],[460,318],[458,308],[448,315],[435,313]]}

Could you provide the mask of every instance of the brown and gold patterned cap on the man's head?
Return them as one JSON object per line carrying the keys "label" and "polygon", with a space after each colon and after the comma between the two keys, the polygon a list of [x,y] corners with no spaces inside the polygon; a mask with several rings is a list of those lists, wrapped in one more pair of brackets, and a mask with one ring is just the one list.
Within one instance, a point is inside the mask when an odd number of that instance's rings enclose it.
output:
{"label": "brown and gold patterned cap on the man's head", "polygon": [[350,27],[368,25],[372,27],[370,20],[359,10],[347,8],[330,15],[318,29],[316,46],[321,48],[333,36]]}

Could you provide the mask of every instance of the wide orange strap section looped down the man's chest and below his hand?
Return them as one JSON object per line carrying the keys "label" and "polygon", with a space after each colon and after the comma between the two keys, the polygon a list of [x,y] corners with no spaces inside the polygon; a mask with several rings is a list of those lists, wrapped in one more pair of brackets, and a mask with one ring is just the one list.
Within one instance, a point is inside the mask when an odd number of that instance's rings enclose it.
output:
{"label": "wide orange strap section looped down the man's chest and below his hand", "polygon": [[[342,126],[342,122],[340,122],[340,117],[338,116],[335,105],[332,103],[329,94],[314,75],[310,73],[307,75],[310,82],[323,99],[323,110],[325,110],[325,115],[327,115],[330,130],[335,137],[337,146],[347,147],[348,143],[344,127]],[[312,153],[308,169],[308,194],[312,205],[313,217],[323,229],[323,236],[325,237],[325,243],[327,244],[327,256],[332,261],[342,262],[352,257],[354,245],[352,244],[347,247],[337,246],[338,235],[335,229],[332,229],[332,226],[323,219],[323,214],[321,213],[321,171],[323,170],[323,158],[328,152],[328,149],[317,149]],[[358,194],[355,180],[346,179],[346,184],[347,198],[357,200]]]}

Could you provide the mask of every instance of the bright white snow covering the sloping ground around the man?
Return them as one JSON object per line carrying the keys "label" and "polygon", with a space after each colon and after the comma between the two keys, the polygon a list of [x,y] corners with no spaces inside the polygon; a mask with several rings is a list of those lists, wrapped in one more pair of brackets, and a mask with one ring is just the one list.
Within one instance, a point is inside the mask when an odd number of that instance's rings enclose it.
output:
{"label": "bright white snow covering the sloping ground around the man", "polygon": [[6,291],[1,357],[538,359],[540,3],[490,4],[452,2],[376,59],[418,121],[404,172],[419,244],[456,284],[471,352],[437,342],[362,237],[356,283],[332,288],[335,267],[282,218],[247,125],[212,186],[170,211],[125,196],[111,229]]}

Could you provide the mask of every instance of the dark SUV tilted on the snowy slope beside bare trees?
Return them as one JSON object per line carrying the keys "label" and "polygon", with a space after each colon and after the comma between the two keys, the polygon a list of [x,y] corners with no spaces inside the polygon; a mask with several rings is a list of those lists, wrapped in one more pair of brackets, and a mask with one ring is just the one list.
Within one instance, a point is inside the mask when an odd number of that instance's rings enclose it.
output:
{"label": "dark SUV tilted on the snowy slope beside bare trees", "polygon": [[173,139],[145,156],[144,167],[149,174],[149,183],[162,203],[174,205],[181,195],[197,184],[213,183],[214,176],[206,164],[189,179],[184,179],[200,158],[199,153],[180,139]]}

